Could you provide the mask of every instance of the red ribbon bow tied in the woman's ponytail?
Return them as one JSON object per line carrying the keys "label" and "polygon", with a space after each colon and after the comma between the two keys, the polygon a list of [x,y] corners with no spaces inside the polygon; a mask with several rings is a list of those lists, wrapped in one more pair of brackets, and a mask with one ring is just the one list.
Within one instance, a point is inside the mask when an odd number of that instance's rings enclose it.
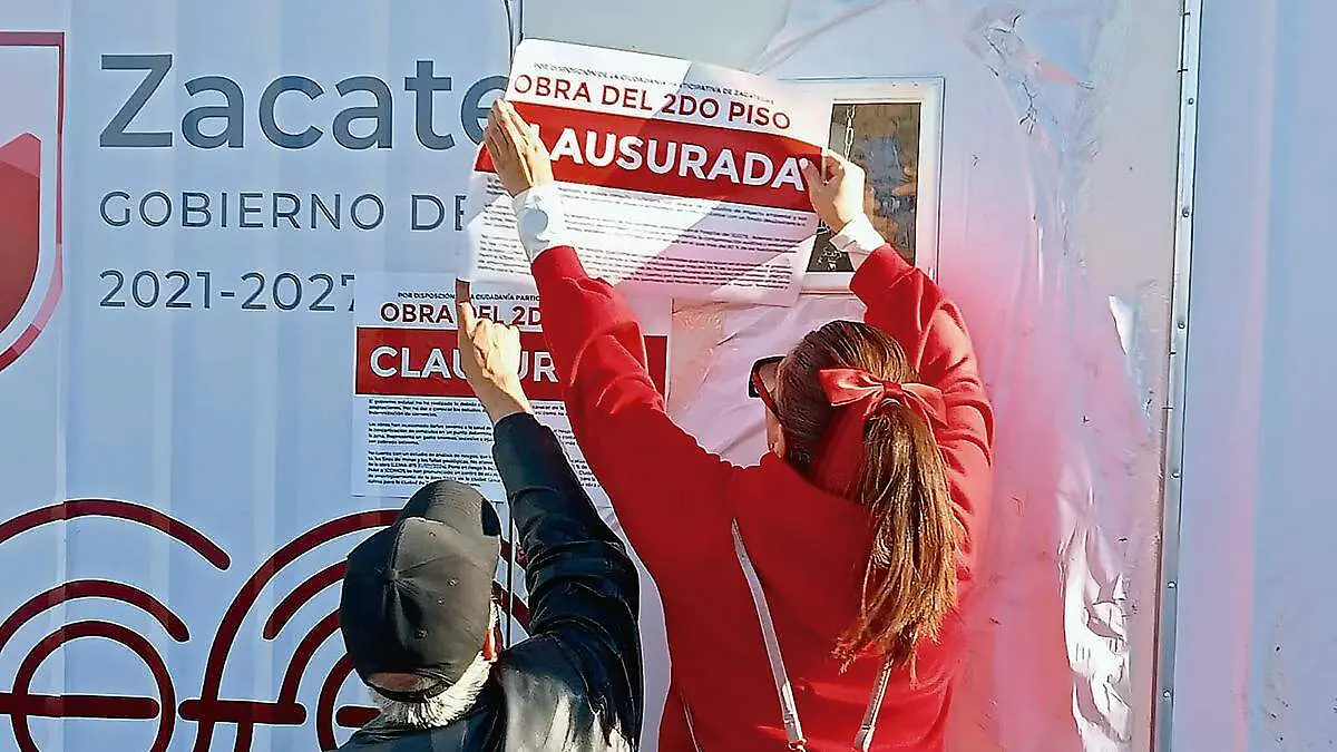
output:
{"label": "red ribbon bow tied in the woman's ponytail", "polygon": [[864,427],[877,408],[894,400],[919,415],[929,430],[947,426],[941,389],[928,384],[884,381],[858,368],[828,368],[818,383],[836,411],[813,459],[813,480],[824,490],[849,496],[864,464]]}

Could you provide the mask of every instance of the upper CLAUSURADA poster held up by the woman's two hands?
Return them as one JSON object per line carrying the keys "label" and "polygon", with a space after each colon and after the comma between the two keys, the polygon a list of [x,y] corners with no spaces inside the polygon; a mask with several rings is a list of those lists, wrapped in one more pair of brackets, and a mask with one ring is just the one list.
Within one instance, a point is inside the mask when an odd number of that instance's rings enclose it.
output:
{"label": "upper CLAUSURADA poster held up by the woman's two hands", "polygon": [[[817,215],[802,158],[828,112],[750,74],[525,40],[507,100],[552,155],[572,245],[624,289],[785,304],[798,296]],[[484,151],[469,186],[472,280],[523,281],[509,198]]]}

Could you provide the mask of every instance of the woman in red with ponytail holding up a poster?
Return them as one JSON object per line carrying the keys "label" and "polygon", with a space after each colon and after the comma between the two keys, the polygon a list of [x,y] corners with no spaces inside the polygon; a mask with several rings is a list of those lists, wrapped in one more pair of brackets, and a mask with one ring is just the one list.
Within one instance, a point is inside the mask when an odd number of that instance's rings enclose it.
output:
{"label": "woman in red with ponytail holding up a poster", "polygon": [[873,230],[862,171],[805,165],[865,322],[754,365],[770,452],[735,467],[664,412],[635,316],[562,240],[547,149],[508,103],[487,149],[576,440],[663,598],[660,749],[943,749],[993,416],[960,312]]}

